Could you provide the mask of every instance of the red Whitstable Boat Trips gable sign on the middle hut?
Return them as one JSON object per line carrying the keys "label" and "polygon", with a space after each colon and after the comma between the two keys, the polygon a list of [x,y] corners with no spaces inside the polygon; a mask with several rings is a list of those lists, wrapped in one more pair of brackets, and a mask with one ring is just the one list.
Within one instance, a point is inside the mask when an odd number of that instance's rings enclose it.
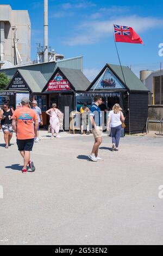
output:
{"label": "red Whitstable Boat Trips gable sign on the middle hut", "polygon": [[58,73],[55,78],[48,83],[48,91],[68,91],[70,90],[70,82],[63,79]]}

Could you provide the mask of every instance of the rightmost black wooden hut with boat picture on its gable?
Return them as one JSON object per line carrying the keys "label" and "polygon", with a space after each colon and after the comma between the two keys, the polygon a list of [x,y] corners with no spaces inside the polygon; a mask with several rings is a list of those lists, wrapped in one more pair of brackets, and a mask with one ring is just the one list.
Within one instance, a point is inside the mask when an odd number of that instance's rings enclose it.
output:
{"label": "rightmost black wooden hut with boat picture on its gable", "polygon": [[115,103],[120,103],[126,117],[127,133],[145,131],[148,118],[148,89],[130,68],[122,66],[121,69],[121,66],[106,64],[83,96],[93,98],[97,94],[105,98],[109,109]]}

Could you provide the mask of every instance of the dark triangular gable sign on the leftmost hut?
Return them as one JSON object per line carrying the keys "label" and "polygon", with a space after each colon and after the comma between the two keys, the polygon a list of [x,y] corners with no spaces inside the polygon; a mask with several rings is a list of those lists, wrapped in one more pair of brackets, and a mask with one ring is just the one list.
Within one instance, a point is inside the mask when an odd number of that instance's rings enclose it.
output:
{"label": "dark triangular gable sign on the leftmost hut", "polygon": [[27,87],[26,82],[24,82],[22,76],[17,73],[9,86],[9,90],[29,91],[29,88]]}

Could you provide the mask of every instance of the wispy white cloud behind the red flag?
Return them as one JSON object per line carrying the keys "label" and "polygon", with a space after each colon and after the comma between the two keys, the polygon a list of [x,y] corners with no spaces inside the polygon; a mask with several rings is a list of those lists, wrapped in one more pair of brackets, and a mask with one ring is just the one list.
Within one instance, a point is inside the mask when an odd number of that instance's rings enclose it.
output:
{"label": "wispy white cloud behind the red flag", "polygon": [[133,27],[137,33],[163,24],[163,20],[154,17],[141,17],[137,15],[116,17],[106,21],[83,22],[77,27],[78,35],[67,40],[68,45],[88,45],[98,43],[101,39],[112,35],[113,24]]}

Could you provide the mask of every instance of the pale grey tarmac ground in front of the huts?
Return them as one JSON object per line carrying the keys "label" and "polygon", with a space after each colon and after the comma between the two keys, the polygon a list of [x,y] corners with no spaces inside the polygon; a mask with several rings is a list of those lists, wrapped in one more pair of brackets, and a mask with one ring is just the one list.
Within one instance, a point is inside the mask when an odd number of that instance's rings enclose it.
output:
{"label": "pale grey tarmac ground in front of the huts", "polygon": [[0,132],[0,245],[162,245],[163,136],[126,136],[111,152],[105,134],[97,163],[92,135],[47,136],[24,175],[15,135],[7,150]]}

